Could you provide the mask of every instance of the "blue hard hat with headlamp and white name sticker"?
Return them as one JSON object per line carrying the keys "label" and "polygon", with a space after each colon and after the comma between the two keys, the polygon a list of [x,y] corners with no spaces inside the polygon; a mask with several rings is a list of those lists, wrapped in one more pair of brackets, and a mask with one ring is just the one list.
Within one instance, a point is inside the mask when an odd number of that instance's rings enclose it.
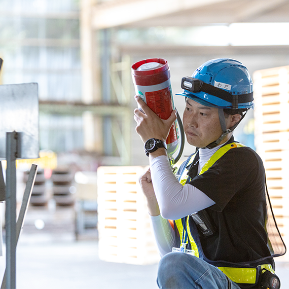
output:
{"label": "blue hard hat with headlamp and white name sticker", "polygon": [[253,83],[246,66],[230,58],[212,59],[182,79],[183,95],[223,109],[254,109]]}

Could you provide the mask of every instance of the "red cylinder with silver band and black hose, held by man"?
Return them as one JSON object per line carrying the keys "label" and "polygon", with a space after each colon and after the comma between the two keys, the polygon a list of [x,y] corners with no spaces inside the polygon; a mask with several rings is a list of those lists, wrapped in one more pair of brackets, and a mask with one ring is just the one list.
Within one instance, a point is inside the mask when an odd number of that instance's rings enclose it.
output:
{"label": "red cylinder with silver band and black hose, held by man", "polygon": [[[175,109],[168,62],[163,58],[141,60],[131,66],[135,93],[161,119],[168,119]],[[184,150],[185,134],[178,112],[166,139],[170,164],[175,164]]]}

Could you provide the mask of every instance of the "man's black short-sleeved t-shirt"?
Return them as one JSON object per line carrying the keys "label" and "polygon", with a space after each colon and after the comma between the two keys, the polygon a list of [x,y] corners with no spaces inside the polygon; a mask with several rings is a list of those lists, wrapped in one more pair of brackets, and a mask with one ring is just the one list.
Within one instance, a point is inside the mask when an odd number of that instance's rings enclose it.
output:
{"label": "man's black short-sleeved t-shirt", "polygon": [[[200,234],[204,255],[209,260],[239,263],[271,256],[264,229],[265,172],[254,150],[230,149],[189,184],[215,202],[205,211],[216,233],[207,237]],[[273,261],[269,258],[268,262]]]}

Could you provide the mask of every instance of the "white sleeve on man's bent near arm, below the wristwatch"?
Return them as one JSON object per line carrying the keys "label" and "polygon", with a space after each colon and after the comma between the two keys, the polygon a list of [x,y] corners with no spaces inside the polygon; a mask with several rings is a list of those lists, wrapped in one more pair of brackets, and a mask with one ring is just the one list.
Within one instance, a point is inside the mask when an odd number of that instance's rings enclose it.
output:
{"label": "white sleeve on man's bent near arm, below the wristwatch", "polygon": [[159,156],[151,162],[152,182],[164,219],[178,220],[215,204],[196,187],[179,184],[171,171],[168,158]]}

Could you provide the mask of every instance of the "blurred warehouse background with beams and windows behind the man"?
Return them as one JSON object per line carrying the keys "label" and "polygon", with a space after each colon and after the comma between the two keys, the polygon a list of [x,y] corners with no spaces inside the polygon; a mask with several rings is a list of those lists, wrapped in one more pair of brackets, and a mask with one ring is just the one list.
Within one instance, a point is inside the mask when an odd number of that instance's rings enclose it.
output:
{"label": "blurred warehouse background with beams and windows behind the man", "polygon": [[[208,59],[238,59],[251,75],[288,65],[287,28],[288,0],[0,0],[0,83],[39,84],[41,158],[25,230],[97,238],[97,169],[148,165],[133,63],[165,58],[177,93]],[[174,101],[182,113],[184,99]],[[235,136],[258,148],[253,112]],[[19,200],[30,163],[18,164]]]}

